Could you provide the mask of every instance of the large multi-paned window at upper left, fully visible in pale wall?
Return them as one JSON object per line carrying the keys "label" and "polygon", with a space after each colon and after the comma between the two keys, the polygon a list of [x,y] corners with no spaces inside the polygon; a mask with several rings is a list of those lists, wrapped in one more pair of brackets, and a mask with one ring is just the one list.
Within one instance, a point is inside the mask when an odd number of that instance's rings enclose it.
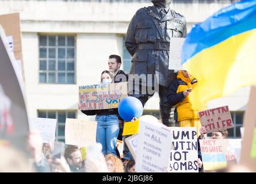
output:
{"label": "large multi-paned window at upper left, fully visible in pale wall", "polygon": [[39,35],[39,82],[74,84],[75,36]]}

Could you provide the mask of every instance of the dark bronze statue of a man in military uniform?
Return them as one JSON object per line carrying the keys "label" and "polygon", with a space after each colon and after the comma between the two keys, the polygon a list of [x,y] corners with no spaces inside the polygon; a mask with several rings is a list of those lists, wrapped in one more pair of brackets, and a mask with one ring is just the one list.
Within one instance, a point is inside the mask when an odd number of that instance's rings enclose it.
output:
{"label": "dark bronze statue of a man in military uniform", "polygon": [[[176,78],[175,72],[168,70],[170,38],[185,37],[187,25],[184,16],[169,8],[170,0],[151,2],[154,6],[143,7],[132,17],[125,37],[125,47],[132,56],[130,74],[158,76],[161,118],[162,122],[170,127],[172,106],[169,105],[166,94],[170,83]],[[142,85],[140,82],[139,86]],[[138,98],[143,106],[153,96],[131,91],[129,94]]]}

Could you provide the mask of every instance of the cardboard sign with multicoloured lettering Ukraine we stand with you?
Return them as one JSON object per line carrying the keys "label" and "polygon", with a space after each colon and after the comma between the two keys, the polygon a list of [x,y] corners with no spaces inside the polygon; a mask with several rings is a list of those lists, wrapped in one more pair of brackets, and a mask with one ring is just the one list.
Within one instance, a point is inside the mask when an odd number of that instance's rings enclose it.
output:
{"label": "cardboard sign with multicoloured lettering Ukraine we stand with you", "polygon": [[81,110],[117,108],[127,96],[127,82],[79,86]]}

